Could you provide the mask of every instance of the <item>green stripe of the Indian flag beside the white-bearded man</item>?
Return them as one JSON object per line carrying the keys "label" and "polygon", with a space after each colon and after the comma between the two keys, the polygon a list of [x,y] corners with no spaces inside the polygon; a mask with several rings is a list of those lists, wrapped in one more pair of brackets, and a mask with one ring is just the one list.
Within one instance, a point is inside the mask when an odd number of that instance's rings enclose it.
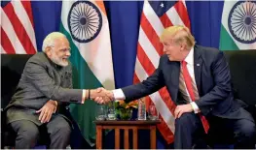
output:
{"label": "green stripe of the Indian flag beside the white-bearded man", "polygon": [[[79,49],[73,43],[71,36],[65,30],[62,23],[60,23],[60,32],[66,35],[71,47],[69,60],[73,66],[73,88],[94,89],[102,87],[102,84],[91,72],[87,62],[81,56]],[[95,106],[96,103],[91,100],[87,100],[84,105],[70,105],[72,117],[77,122],[82,135],[84,135],[91,146],[93,146],[95,140],[95,125],[93,124],[95,120]]]}

